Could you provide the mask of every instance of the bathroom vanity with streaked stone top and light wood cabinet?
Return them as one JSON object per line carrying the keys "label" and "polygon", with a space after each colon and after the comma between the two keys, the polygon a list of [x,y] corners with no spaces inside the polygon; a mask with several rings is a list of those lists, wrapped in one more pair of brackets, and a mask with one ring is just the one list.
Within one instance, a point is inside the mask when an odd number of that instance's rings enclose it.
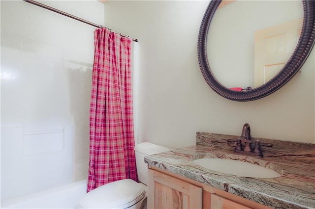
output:
{"label": "bathroom vanity with streaked stone top and light wood cabinet", "polygon": [[[194,146],[145,157],[148,208],[315,208],[315,144],[259,139],[273,146],[261,148],[263,157],[253,157],[234,153],[237,137],[197,132]],[[275,171],[279,177],[221,173],[193,162],[200,158],[245,161]],[[239,169],[247,173],[242,165]]]}

